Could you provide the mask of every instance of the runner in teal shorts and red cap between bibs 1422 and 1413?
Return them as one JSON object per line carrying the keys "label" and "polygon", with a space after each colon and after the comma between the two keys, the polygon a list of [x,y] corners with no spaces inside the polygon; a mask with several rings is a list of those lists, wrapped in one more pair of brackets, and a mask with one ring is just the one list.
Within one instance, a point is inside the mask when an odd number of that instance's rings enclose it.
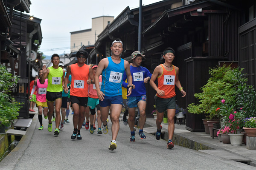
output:
{"label": "runner in teal shorts and red cap between bibs 1422 and 1413", "polygon": [[[98,65],[93,65],[92,69],[93,69],[93,75],[96,74]],[[89,84],[89,97],[88,97],[88,108],[90,108],[90,133],[94,132],[94,122],[96,119],[95,116],[95,108],[97,108],[97,121],[98,121],[98,134],[102,134],[102,130],[101,130],[101,114],[100,114],[100,108],[99,108],[99,97],[97,96],[97,91],[95,88],[95,84],[91,84],[91,80],[87,80],[87,83]],[[101,88],[101,84],[102,84],[102,76],[99,76],[99,88]]]}

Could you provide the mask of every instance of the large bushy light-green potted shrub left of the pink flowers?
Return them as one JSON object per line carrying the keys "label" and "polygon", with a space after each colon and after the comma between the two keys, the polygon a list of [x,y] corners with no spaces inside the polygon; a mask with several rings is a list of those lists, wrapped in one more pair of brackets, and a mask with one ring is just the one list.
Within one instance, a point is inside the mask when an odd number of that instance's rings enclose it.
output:
{"label": "large bushy light-green potted shrub left of the pink flowers", "polygon": [[[187,111],[195,114],[207,114],[209,115],[207,116],[208,121],[219,121],[219,111],[216,109],[219,108],[219,101],[224,98],[228,99],[230,103],[236,102],[236,85],[238,80],[233,73],[234,69],[230,65],[210,68],[209,74],[211,77],[208,79],[207,84],[201,88],[201,93],[194,95],[198,99],[199,104],[189,104]],[[211,130],[209,130],[209,133],[211,133]]]}

